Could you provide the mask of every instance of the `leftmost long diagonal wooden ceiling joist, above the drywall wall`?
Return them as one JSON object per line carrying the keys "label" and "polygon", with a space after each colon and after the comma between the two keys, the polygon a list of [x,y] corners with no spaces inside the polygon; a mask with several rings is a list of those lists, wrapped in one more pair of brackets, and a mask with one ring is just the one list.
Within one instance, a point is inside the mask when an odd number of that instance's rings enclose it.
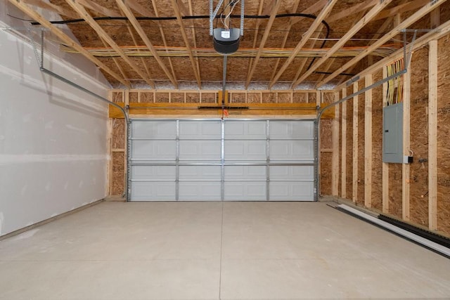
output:
{"label": "leftmost long diagonal wooden ceiling joist, above the drywall wall", "polygon": [[48,30],[50,30],[53,34],[56,35],[56,37],[58,37],[59,39],[61,39],[61,41],[64,41],[65,44],[67,44],[68,46],[74,48],[75,50],[79,51],[79,53],[82,54],[82,56],[84,56],[85,58],[87,58],[88,60],[91,60],[92,63],[96,64],[98,67],[101,67],[103,70],[105,70],[105,72],[107,72],[108,74],[110,74],[112,77],[114,77],[115,79],[117,79],[117,81],[119,81],[120,83],[124,84],[124,86],[127,86],[128,88],[130,88],[131,86],[129,85],[129,82],[126,81],[125,79],[123,79],[122,77],[120,77],[119,74],[117,74],[116,72],[114,72],[113,70],[111,70],[107,65],[105,65],[104,63],[102,63],[100,60],[98,60],[98,58],[95,58],[94,56],[91,55],[91,53],[89,53],[89,51],[86,51],[82,46],[79,46],[79,44],[72,40],[70,37],[68,37],[67,34],[65,34],[62,30],[60,30],[58,27],[54,26],[53,24],[51,24],[51,22],[49,22],[48,20],[46,20],[44,17],[42,17],[41,15],[39,15],[39,13],[37,13],[36,11],[34,11],[34,9],[30,8],[30,6],[27,6],[26,4],[24,4],[23,2],[20,1],[14,1],[14,0],[9,0],[9,2],[11,4],[13,4],[15,7],[19,8],[20,11],[23,11],[24,13],[26,13],[28,16],[30,16],[30,18],[33,18],[34,20],[36,20],[37,22],[39,22],[42,26],[46,27]]}

